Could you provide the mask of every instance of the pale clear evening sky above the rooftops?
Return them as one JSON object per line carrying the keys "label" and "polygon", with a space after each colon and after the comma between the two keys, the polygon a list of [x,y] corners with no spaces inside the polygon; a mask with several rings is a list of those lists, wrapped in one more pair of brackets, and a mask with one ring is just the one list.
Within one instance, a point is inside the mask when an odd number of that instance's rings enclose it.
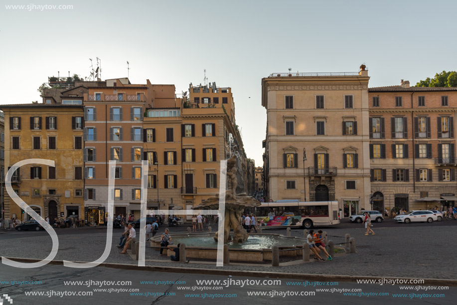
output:
{"label": "pale clear evening sky above the rooftops", "polygon": [[[456,70],[457,1],[0,0],[0,104],[39,100],[48,76],[231,87],[248,158],[262,166],[271,73],[358,71],[369,86]],[[73,5],[71,9],[37,5]],[[6,5],[32,5],[12,9]],[[35,6],[33,6],[35,5]]]}

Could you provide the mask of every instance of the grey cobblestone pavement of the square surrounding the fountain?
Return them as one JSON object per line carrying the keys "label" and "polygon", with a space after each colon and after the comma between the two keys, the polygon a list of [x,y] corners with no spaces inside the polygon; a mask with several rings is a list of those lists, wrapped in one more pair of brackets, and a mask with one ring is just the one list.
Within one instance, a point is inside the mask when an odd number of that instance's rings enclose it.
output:
{"label": "grey cobblestone pavement of the square surrounding the fountain", "polygon": [[[309,262],[287,267],[271,267],[271,265],[221,267],[226,270],[242,271],[275,271],[282,273],[360,275],[378,277],[403,278],[434,278],[455,279],[455,268],[451,268],[452,258],[457,251],[457,243],[453,237],[457,234],[457,226],[447,227],[408,227],[377,228],[374,224],[374,236],[365,236],[365,229],[332,230],[326,229],[329,236],[341,236],[349,233],[357,245],[356,254],[335,257],[331,262]],[[159,231],[161,233],[162,229]],[[171,236],[173,228],[170,229]],[[282,231],[284,234],[285,231]],[[182,233],[176,232],[176,233]],[[265,233],[265,232],[264,232]],[[273,232],[272,232],[273,233]],[[293,230],[293,236],[303,236],[303,231]],[[116,247],[119,243],[120,231],[113,233],[111,253],[107,263],[134,264],[129,256],[120,254]],[[329,237],[335,244],[344,242],[344,238]],[[91,262],[98,259],[105,249],[106,234],[98,230],[88,235],[59,236],[59,251],[55,260]],[[22,257],[44,259],[50,252],[49,236],[36,236],[0,241],[0,254],[5,257]],[[164,267],[181,267],[179,263],[169,261],[168,257],[160,257],[157,250],[146,249],[147,265]],[[451,265],[450,265],[451,264]],[[186,264],[186,268],[215,268],[208,264]]]}

